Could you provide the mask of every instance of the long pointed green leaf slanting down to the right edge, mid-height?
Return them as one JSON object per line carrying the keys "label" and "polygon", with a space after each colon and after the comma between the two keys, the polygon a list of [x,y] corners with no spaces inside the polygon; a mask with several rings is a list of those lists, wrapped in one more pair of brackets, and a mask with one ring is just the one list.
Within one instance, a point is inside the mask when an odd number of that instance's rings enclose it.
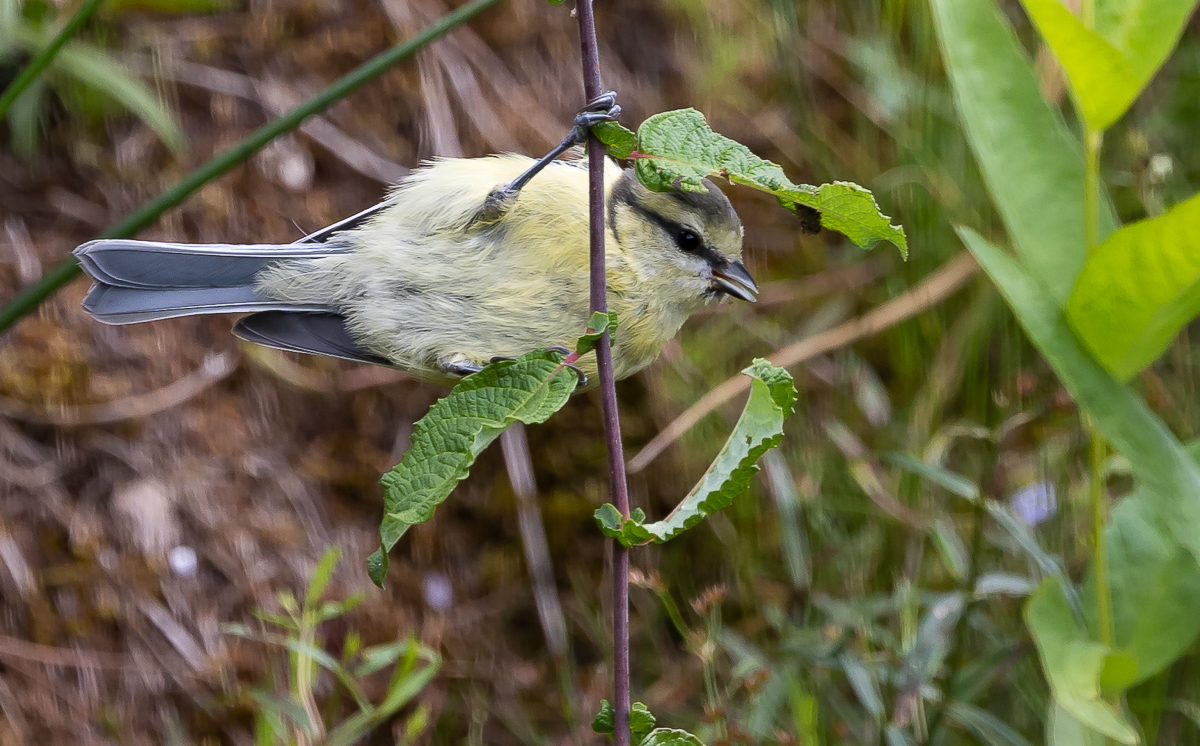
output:
{"label": "long pointed green leaf slanting down to the right edge, mid-height", "polygon": [[1200,467],[1146,403],[1087,354],[1043,283],[970,228],[958,230],[1072,397],[1129,459],[1176,540],[1200,558]]}

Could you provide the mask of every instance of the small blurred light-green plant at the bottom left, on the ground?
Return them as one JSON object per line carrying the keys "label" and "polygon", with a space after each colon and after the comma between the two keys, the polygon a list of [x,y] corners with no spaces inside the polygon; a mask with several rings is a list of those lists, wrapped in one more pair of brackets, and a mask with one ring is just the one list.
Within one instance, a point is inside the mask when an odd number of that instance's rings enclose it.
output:
{"label": "small blurred light-green plant at the bottom left, on the ground", "polygon": [[[254,616],[266,625],[278,627],[283,633],[268,630],[250,630],[245,625],[230,624],[224,632],[248,640],[281,648],[288,652],[290,662],[288,691],[281,694],[270,688],[250,688],[239,697],[252,704],[254,710],[254,742],[260,746],[319,740],[329,746],[350,746],[371,734],[373,729],[392,720],[409,704],[442,668],[442,658],[434,650],[415,639],[396,640],[362,648],[358,633],[347,632],[341,645],[342,657],[328,652],[319,640],[323,622],[336,619],[364,598],[361,592],[343,601],[324,601],[325,589],[337,568],[340,551],[330,548],[322,557],[305,589],[304,602],[296,603],[289,591],[278,595],[283,613],[258,609]],[[366,694],[364,679],[392,668],[383,699],[374,704]],[[324,722],[317,706],[319,687],[318,669],[325,670],[341,684],[354,700],[356,711],[341,722]],[[324,688],[324,687],[322,687]],[[427,727],[428,710],[418,708],[407,717],[406,732],[415,739]]]}

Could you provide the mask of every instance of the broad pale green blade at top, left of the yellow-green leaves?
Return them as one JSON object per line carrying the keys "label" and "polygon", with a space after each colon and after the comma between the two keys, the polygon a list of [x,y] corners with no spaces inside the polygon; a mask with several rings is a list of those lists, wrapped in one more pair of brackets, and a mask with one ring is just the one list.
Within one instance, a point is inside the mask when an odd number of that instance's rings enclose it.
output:
{"label": "broad pale green blade at top, left of the yellow-green leaves", "polygon": [[[1084,266],[1084,155],[995,0],[931,0],[964,132],[1021,260],[1066,305]],[[1102,199],[1100,236],[1116,225]]]}

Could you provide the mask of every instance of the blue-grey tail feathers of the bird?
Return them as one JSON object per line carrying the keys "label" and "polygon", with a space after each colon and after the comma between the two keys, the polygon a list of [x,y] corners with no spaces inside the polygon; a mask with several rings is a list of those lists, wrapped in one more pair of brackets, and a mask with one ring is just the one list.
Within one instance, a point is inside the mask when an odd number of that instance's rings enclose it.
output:
{"label": "blue-grey tail feathers of the bird", "polygon": [[256,289],[263,269],[286,259],[343,253],[329,243],[168,243],[101,239],[74,251],[95,281],[84,311],[106,324],[133,324],[202,313],[329,311],[289,303]]}

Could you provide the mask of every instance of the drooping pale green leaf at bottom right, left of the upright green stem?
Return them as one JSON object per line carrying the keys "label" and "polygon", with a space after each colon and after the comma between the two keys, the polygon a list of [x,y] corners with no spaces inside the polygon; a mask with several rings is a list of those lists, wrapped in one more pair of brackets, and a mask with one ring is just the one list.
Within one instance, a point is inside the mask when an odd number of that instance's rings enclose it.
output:
{"label": "drooping pale green leaf at bottom right, left of the upright green stem", "polygon": [[1062,580],[1046,578],[1025,604],[1025,624],[1033,634],[1055,702],[1080,723],[1133,746],[1138,732],[1100,697],[1100,672],[1108,649],[1087,637],[1070,610]]}

